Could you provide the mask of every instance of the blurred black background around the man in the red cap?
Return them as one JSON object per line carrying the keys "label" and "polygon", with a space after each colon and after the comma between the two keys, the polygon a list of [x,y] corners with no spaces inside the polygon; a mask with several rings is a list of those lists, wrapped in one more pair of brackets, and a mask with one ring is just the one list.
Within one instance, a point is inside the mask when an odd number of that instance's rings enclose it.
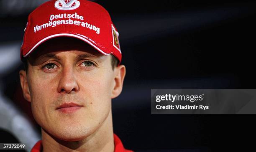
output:
{"label": "blurred black background around the man in the red cap", "polygon": [[[3,1],[0,42],[21,44],[34,8],[8,10]],[[122,94],[113,100],[113,125],[126,148],[219,152],[253,147],[255,115],[153,115],[150,89],[255,89],[256,1],[95,2],[109,11],[120,33],[127,75]],[[20,68],[1,75],[5,95],[17,104],[26,102]]]}

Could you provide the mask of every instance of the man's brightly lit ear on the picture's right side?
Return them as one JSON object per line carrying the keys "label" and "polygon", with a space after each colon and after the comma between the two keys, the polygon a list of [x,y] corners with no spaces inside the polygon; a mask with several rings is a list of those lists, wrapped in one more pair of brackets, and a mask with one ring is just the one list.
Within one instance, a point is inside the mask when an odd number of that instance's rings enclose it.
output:
{"label": "man's brightly lit ear on the picture's right side", "polygon": [[112,96],[111,99],[119,96],[121,94],[123,89],[123,80],[125,77],[126,69],[124,65],[120,65],[114,69],[114,88],[112,90]]}

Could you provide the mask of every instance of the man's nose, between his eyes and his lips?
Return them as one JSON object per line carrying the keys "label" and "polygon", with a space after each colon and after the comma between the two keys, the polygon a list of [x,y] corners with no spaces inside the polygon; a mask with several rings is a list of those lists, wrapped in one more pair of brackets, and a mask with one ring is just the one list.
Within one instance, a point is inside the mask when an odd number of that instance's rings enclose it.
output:
{"label": "man's nose, between his eyes and his lips", "polygon": [[77,80],[71,67],[63,68],[58,86],[59,93],[75,94],[79,91]]}

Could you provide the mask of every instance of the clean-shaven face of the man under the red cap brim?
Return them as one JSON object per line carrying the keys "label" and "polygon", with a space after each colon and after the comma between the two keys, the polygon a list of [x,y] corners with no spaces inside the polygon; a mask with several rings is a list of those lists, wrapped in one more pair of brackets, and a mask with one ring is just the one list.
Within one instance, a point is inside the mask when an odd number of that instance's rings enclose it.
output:
{"label": "clean-shaven face of the man under the red cap brim", "polygon": [[118,71],[111,56],[84,42],[56,43],[46,42],[29,56],[27,100],[46,132],[75,141],[95,132],[111,113],[111,99],[120,94],[113,94]]}

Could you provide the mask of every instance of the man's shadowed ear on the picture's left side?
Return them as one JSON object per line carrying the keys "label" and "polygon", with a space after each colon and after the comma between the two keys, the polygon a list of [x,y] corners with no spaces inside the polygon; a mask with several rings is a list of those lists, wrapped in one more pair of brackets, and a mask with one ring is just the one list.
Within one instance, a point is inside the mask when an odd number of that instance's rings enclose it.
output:
{"label": "man's shadowed ear on the picture's left side", "polygon": [[31,101],[30,92],[28,89],[28,80],[27,80],[27,73],[24,70],[20,70],[20,86],[23,92],[23,96],[27,101]]}

